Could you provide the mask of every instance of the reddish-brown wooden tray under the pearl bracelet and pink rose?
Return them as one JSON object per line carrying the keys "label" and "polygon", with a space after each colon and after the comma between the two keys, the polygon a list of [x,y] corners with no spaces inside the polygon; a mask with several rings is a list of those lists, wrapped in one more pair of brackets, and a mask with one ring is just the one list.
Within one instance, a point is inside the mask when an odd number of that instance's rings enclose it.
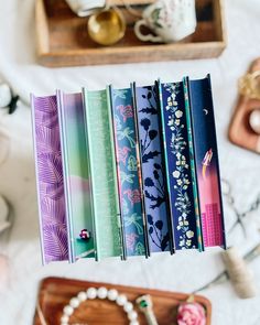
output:
{"label": "reddish-brown wooden tray under the pearl bracelet and pink rose", "polygon": [[[39,303],[45,321],[50,325],[59,325],[63,307],[79,291],[89,286],[116,288],[120,293],[126,293],[129,301],[134,302],[142,294],[150,294],[154,304],[154,312],[160,325],[176,324],[176,310],[180,302],[186,301],[188,295],[183,293],[166,292],[159,290],[129,288],[108,283],[86,282],[62,278],[46,278],[42,281],[39,292]],[[195,301],[203,304],[207,313],[207,325],[210,324],[212,304],[201,295],[195,295]],[[137,308],[136,308],[137,310]],[[144,316],[139,312],[141,325],[145,325]],[[72,324],[96,324],[96,325],[127,325],[129,324],[121,307],[107,300],[94,300],[82,303],[71,317]],[[89,323],[88,323],[89,322]],[[34,325],[42,325],[37,311],[34,316]]]}

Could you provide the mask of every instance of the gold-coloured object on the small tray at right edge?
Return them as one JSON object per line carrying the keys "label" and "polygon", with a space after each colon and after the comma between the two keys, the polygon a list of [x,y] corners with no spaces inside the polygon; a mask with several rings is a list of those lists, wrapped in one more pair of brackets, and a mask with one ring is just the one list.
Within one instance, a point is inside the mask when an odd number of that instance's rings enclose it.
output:
{"label": "gold-coloured object on the small tray at right edge", "polygon": [[238,82],[239,93],[253,99],[260,99],[260,71],[242,76]]}

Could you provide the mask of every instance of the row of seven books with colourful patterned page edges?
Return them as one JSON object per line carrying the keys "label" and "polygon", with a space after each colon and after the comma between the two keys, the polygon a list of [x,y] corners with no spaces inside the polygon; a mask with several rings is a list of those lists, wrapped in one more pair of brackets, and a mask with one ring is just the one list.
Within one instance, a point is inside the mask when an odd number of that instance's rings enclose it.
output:
{"label": "row of seven books with colourful patterned page edges", "polygon": [[226,248],[209,75],[31,104],[43,263]]}

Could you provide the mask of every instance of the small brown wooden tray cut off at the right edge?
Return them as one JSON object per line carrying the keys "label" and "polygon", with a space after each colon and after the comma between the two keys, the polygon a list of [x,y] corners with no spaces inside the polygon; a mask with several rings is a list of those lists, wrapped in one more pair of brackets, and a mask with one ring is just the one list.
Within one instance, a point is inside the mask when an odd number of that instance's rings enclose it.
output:
{"label": "small brown wooden tray cut off at the right edge", "polygon": [[260,153],[260,57],[239,79],[238,86],[239,99],[229,127],[229,139]]}

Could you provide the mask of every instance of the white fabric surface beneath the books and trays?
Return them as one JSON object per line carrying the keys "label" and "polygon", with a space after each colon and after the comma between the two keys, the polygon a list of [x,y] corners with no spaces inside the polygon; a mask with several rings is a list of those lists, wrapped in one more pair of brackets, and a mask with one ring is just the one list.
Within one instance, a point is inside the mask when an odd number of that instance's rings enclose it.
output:
{"label": "white fabric surface beneath the books and trays", "polygon": [[[131,80],[145,85],[159,76],[170,82],[177,80],[183,75],[204,77],[209,72],[215,97],[221,175],[231,182],[237,206],[242,210],[260,191],[260,158],[229,143],[227,127],[236,104],[237,79],[246,72],[249,63],[260,56],[260,2],[225,2],[228,48],[219,58],[48,69],[39,66],[35,59],[34,1],[1,0],[0,78],[10,83],[24,102],[29,102],[31,91],[37,95],[52,94],[56,88],[77,91],[83,85],[98,89],[107,83],[124,87]],[[12,116],[1,110],[0,130],[11,138],[9,159],[0,166],[0,194],[8,197],[15,212],[11,237],[2,248],[10,264],[9,284],[0,293],[0,324],[32,323],[37,284],[47,275],[191,292],[224,269],[219,249],[202,254],[156,254],[149,260],[139,258],[127,262],[112,259],[101,262],[84,260],[76,264],[54,263],[43,268],[29,107],[22,105]],[[225,199],[224,202],[228,227],[232,213]],[[228,237],[228,243],[236,243],[241,252],[246,252],[260,239],[259,228],[260,210],[247,219],[247,239],[238,227]],[[256,285],[260,289],[260,258],[251,262],[250,268],[256,275]],[[228,282],[204,291],[203,294],[212,300],[214,325],[260,324],[260,294],[251,300],[239,300]]]}

